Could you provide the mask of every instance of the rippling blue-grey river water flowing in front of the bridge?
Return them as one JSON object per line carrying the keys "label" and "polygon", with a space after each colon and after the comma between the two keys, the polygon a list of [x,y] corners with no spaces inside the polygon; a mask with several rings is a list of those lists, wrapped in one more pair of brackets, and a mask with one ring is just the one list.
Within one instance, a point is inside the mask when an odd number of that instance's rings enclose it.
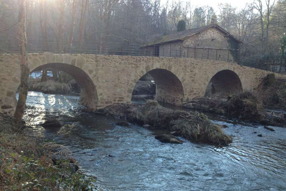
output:
{"label": "rippling blue-grey river water flowing in front of the bridge", "polygon": [[[140,125],[120,127],[117,119],[80,112],[78,99],[29,92],[24,118],[33,133],[67,146],[103,190],[286,190],[283,128],[214,121],[229,126],[224,131],[234,140],[228,147],[184,139],[162,144]],[[37,126],[50,118],[65,125],[53,131]]]}

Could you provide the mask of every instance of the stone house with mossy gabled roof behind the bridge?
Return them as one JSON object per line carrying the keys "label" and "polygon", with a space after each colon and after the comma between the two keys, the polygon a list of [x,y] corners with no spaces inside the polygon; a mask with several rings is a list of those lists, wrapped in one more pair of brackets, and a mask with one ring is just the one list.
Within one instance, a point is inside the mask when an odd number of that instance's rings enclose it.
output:
{"label": "stone house with mossy gabled roof behind the bridge", "polygon": [[240,40],[212,24],[163,36],[145,47],[152,56],[198,58],[237,63]]}

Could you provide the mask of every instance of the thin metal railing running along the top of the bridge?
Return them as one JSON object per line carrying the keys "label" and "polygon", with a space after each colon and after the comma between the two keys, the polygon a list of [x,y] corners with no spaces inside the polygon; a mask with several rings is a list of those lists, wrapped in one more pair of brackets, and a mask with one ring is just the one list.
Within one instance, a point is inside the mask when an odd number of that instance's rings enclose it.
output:
{"label": "thin metal railing running along the top of the bridge", "polygon": [[[69,43],[56,40],[28,39],[27,48],[29,53],[69,53],[69,54],[105,54],[122,56],[162,56],[176,58],[196,58],[218,60],[233,64],[241,64],[253,68],[269,70],[267,65],[258,63],[253,58],[240,58],[239,50],[226,48],[198,47],[187,45],[160,44],[142,45],[132,43],[105,43],[82,41]],[[15,42],[0,42],[0,53],[18,53],[19,46]]]}

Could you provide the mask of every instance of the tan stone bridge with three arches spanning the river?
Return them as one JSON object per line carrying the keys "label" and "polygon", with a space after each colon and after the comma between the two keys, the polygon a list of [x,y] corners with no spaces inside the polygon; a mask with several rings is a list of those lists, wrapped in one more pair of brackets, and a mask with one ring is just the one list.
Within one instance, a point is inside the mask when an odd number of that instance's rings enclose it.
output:
{"label": "tan stone bridge with three arches spanning the river", "polygon": [[[20,84],[18,57],[0,54],[0,113],[7,115],[13,115],[16,107],[15,93]],[[48,52],[28,54],[28,64],[31,72],[54,68],[73,76],[81,86],[81,104],[92,109],[130,103],[136,82],[147,72],[156,81],[155,98],[174,105],[210,95],[214,87],[221,95],[253,90],[271,73],[214,60]]]}

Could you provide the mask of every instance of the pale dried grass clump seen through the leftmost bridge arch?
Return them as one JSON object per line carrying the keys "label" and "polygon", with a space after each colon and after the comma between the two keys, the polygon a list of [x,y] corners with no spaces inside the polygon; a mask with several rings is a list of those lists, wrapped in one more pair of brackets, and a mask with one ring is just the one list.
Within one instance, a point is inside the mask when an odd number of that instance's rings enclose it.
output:
{"label": "pale dried grass clump seen through the leftmost bridge arch", "polygon": [[31,85],[30,90],[43,92],[45,94],[68,94],[71,88],[68,84],[48,80],[46,82],[38,82]]}

